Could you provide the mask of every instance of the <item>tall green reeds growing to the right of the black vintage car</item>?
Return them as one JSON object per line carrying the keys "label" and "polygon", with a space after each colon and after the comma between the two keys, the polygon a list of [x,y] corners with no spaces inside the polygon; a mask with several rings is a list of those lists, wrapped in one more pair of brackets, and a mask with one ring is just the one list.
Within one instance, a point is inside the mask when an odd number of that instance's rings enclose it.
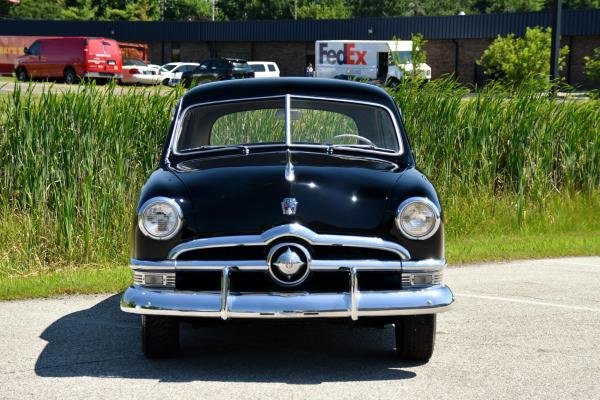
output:
{"label": "tall green reeds growing to the right of the black vintage car", "polygon": [[419,167],[443,198],[511,195],[526,203],[600,188],[600,102],[488,86],[469,96],[452,80],[400,85]]}

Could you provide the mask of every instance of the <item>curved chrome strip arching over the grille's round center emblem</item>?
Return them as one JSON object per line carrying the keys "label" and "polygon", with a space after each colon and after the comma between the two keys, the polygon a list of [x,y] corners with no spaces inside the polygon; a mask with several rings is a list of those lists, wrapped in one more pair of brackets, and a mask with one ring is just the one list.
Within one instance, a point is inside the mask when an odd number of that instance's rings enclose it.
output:
{"label": "curved chrome strip arching over the grille's round center emblem", "polygon": [[403,246],[377,237],[321,235],[300,224],[287,224],[271,228],[260,235],[220,236],[195,239],[175,246],[168,258],[176,259],[181,254],[199,249],[237,246],[265,246],[284,236],[303,239],[312,245],[364,247],[376,250],[387,250],[396,253],[401,259],[410,259],[410,253]]}

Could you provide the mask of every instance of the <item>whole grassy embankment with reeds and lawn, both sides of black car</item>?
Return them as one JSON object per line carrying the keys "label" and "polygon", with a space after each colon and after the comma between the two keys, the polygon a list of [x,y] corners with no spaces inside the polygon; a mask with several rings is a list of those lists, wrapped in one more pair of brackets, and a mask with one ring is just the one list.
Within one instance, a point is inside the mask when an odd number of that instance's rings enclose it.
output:
{"label": "whole grassy embankment with reeds and lawn, both sides of black car", "polygon": [[[119,291],[137,192],[178,93],[0,96],[0,299]],[[451,264],[600,254],[600,105],[402,87]]]}

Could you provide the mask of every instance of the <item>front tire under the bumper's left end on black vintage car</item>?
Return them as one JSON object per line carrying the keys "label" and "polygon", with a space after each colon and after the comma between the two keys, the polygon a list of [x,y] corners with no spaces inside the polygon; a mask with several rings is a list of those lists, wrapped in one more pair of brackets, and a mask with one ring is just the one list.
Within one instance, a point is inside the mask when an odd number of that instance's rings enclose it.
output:
{"label": "front tire under the bumper's left end on black vintage car", "polygon": [[177,318],[142,315],[142,350],[147,358],[168,358],[177,354],[179,350]]}

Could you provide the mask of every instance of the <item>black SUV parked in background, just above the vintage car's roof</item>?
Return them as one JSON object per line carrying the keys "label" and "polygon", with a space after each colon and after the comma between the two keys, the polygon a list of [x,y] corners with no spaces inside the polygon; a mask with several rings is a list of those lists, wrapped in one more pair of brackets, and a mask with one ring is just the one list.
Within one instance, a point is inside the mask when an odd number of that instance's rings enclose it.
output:
{"label": "black SUV parked in background, just above the vintage car's roof", "polygon": [[192,71],[184,72],[181,75],[181,84],[189,88],[207,82],[243,78],[254,78],[254,70],[246,60],[213,58],[201,61],[200,65]]}

